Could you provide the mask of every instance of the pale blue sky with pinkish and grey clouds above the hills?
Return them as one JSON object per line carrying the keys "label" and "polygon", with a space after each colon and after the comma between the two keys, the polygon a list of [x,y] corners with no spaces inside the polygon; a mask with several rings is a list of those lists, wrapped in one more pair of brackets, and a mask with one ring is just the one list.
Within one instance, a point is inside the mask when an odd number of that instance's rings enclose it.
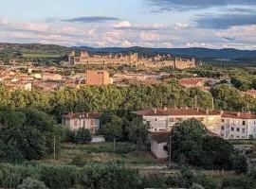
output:
{"label": "pale blue sky with pinkish and grey clouds above the hills", "polygon": [[256,0],[1,0],[0,43],[256,49]]}

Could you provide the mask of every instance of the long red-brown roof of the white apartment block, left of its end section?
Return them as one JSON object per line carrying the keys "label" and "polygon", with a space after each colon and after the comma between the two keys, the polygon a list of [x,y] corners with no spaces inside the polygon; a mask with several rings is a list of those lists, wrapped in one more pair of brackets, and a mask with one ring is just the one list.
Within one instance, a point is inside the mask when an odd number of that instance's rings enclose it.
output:
{"label": "long red-brown roof of the white apartment block, left of its end section", "polygon": [[207,110],[202,110],[202,109],[198,109],[198,110],[197,109],[167,109],[167,110],[164,110],[163,108],[142,110],[142,111],[137,111],[134,113],[136,113],[138,115],[142,115],[142,116],[207,115],[207,114],[218,115],[218,114],[220,114],[220,112],[207,111]]}

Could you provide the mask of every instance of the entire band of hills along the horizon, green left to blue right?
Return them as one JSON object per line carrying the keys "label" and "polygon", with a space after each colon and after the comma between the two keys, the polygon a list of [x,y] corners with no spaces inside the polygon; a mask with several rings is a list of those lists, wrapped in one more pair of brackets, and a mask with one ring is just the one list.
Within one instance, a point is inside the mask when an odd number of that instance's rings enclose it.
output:
{"label": "entire band of hills along the horizon, green left to blue right", "polygon": [[71,50],[87,50],[94,53],[129,53],[137,52],[139,55],[153,56],[156,54],[171,54],[180,57],[195,57],[200,59],[214,60],[256,60],[256,50],[237,50],[231,48],[225,49],[209,49],[209,48],[146,48],[146,47],[105,47],[93,48],[88,46],[66,47],[55,44],[40,43],[0,43],[1,55],[9,55],[13,53],[22,53],[23,55],[67,55]]}

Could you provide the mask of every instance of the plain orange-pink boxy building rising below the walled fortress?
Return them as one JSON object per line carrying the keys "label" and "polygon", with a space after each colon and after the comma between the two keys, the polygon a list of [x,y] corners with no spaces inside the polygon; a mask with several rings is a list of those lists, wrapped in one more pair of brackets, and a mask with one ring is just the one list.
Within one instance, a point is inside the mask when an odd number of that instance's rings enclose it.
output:
{"label": "plain orange-pink boxy building rising below the walled fortress", "polygon": [[87,85],[109,85],[110,77],[107,71],[86,71],[86,80]]}

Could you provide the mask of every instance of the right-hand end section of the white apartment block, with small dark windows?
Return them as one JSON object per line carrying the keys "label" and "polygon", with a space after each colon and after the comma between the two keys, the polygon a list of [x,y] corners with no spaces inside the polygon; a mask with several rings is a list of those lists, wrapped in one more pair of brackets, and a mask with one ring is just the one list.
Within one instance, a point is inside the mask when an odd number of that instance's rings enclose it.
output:
{"label": "right-hand end section of the white apartment block, with small dark windows", "polygon": [[251,112],[221,112],[222,124],[216,130],[225,139],[256,138],[256,115]]}

